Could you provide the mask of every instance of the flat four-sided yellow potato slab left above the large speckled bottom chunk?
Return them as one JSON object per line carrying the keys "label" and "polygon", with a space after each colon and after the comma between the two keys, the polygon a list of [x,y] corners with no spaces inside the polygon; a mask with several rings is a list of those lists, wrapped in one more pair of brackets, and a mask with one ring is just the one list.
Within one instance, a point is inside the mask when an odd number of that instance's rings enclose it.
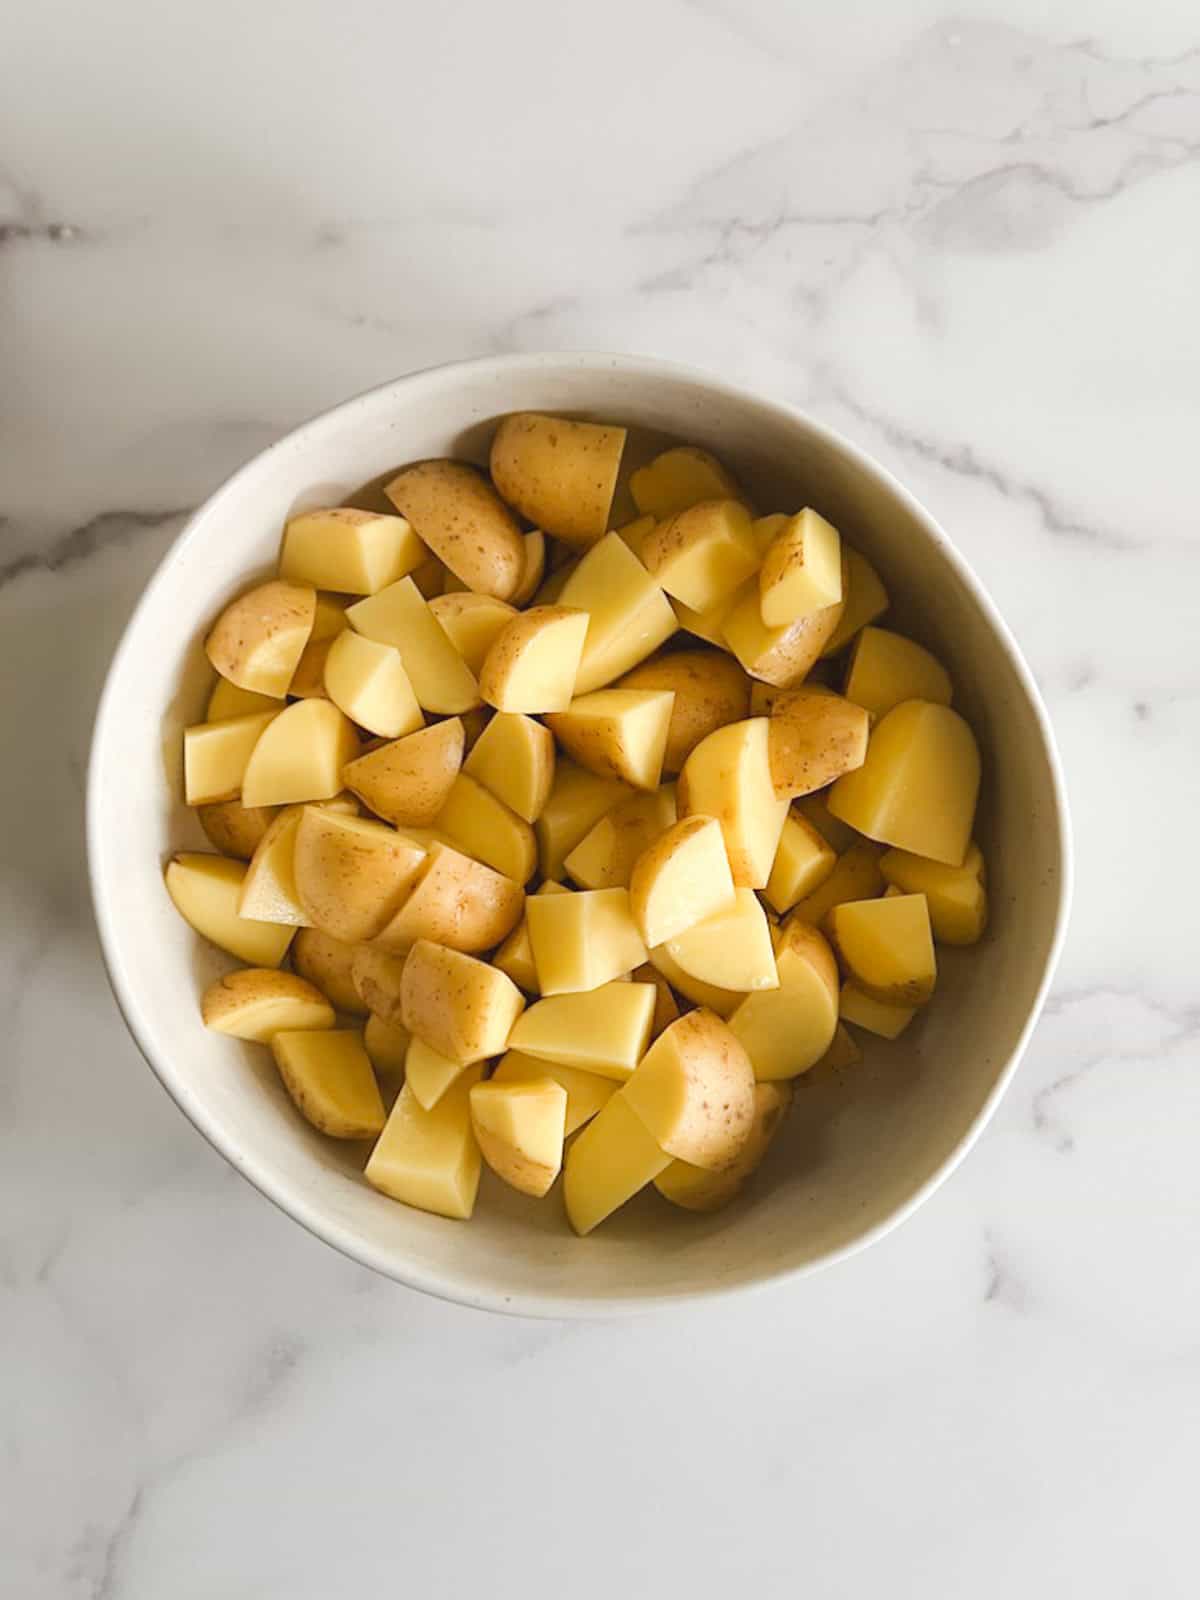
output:
{"label": "flat four-sided yellow potato slab left above the large speckled bottom chunk", "polygon": [[606,1078],[627,1078],[650,1043],[653,984],[610,982],[584,994],[554,995],[522,1011],[512,1050]]}

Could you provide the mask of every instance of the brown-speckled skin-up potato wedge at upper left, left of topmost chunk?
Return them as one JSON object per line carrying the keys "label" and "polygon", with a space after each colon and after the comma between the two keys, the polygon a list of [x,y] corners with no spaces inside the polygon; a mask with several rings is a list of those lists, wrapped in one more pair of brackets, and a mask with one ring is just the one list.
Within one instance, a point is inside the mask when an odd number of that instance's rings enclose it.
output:
{"label": "brown-speckled skin-up potato wedge at upper left, left of topmost chunk", "polygon": [[418,461],[384,493],[467,589],[498,600],[517,594],[525,576],[525,539],[477,467],[466,461]]}

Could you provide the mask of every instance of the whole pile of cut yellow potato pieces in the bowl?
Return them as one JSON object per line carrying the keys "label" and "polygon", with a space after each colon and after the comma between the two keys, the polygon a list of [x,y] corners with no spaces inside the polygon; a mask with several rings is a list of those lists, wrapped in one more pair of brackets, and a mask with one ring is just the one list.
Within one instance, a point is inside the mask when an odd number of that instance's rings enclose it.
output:
{"label": "whole pile of cut yellow potato pieces in the bowl", "polygon": [[166,886],[248,963],[203,1021],[448,1218],[485,1160],[563,1171],[579,1234],[648,1184],[726,1205],[843,1024],[894,1038],[986,923],[976,741],[874,568],[693,446],[613,531],[624,443],[517,414],[490,475],[293,517],[184,734],[219,854]]}

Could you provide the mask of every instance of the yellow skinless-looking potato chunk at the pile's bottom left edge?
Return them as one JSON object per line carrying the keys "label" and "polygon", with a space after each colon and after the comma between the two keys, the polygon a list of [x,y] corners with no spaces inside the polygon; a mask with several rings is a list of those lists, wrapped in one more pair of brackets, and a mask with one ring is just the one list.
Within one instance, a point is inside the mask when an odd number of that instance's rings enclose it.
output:
{"label": "yellow skinless-looking potato chunk at the pile's bottom left edge", "polygon": [[432,1110],[405,1085],[366,1162],[366,1182],[419,1211],[466,1221],[475,1210],[482,1165],[470,1126],[470,1090],[480,1072],[464,1072]]}

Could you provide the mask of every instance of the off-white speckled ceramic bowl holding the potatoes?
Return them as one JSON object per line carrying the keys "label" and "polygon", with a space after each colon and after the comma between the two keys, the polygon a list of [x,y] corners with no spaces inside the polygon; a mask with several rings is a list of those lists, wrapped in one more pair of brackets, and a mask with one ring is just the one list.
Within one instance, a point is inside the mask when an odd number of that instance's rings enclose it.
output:
{"label": "off-white speckled ceramic bowl holding the potatoes", "polygon": [[[946,661],[984,750],[978,835],[992,922],[942,950],[938,995],[853,1072],[798,1083],[747,1194],[712,1218],[638,1197],[590,1238],[557,1198],[485,1171],[469,1224],[371,1190],[362,1154],[293,1112],[266,1050],[206,1032],[203,984],[230,963],[166,898],[165,858],[205,842],[181,798],[179,734],[203,714],[202,638],[267,570],[298,509],[421,456],[483,458],[493,421],[544,410],[614,418],[707,445],[762,506],[819,507],[875,562],[891,621]],[[811,1272],[878,1238],[963,1157],[1013,1075],[1064,931],[1070,856],[1058,757],[1029,669],[950,541],[882,467],[784,405],[635,357],[520,355],[414,373],[296,429],[200,507],[130,621],[96,718],[88,786],[96,920],[138,1045],[195,1126],[262,1194],[346,1254],[470,1306],[595,1315]]]}

